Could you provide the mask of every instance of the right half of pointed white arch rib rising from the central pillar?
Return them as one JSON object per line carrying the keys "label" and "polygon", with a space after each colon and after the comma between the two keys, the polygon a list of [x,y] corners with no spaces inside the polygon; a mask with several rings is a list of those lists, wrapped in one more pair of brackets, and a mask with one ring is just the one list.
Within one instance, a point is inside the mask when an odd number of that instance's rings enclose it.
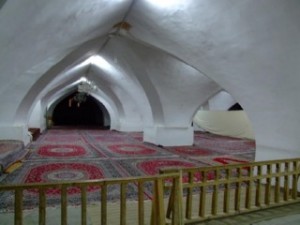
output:
{"label": "right half of pointed white arch rib rising from the central pillar", "polygon": [[114,65],[122,67],[128,75],[127,79],[132,79],[138,86],[136,88],[140,89],[134,95],[138,97],[138,105],[142,108],[144,126],[163,123],[164,114],[160,96],[150,79],[147,62],[136,53],[136,49],[141,48],[142,51],[147,51],[147,49],[143,45],[134,45],[123,36],[114,37],[111,42],[106,52],[110,53],[110,58],[114,58]]}

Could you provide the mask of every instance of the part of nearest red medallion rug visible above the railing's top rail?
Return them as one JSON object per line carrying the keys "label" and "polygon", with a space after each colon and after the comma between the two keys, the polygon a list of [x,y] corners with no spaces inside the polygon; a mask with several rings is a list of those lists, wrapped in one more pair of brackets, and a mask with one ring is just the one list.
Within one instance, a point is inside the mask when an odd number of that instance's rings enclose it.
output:
{"label": "part of nearest red medallion rug visible above the railing's top rail", "polygon": [[27,161],[2,184],[44,183],[58,180],[90,180],[122,177],[109,160]]}

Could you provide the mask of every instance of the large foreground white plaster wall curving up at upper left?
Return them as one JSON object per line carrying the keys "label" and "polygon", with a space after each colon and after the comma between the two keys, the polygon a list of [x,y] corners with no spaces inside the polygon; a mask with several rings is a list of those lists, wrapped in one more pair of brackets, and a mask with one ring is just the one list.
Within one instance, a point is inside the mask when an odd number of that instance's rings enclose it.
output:
{"label": "large foreground white plaster wall curving up at upper left", "polygon": [[[79,0],[67,0],[61,4],[61,1],[54,0],[36,4],[34,0],[7,1],[0,14],[0,79],[3,81],[0,82],[3,96],[0,105],[5,106],[1,108],[0,121],[6,124],[3,127],[12,126],[15,121],[26,127],[30,110],[24,110],[26,115],[22,120],[16,120],[15,116],[23,113],[19,112],[20,104],[35,105],[34,100],[23,101],[34,82],[75,47],[108,32],[123,18],[130,3],[91,0],[83,4]],[[103,10],[102,13],[99,10]],[[11,94],[7,95],[8,92]],[[34,99],[36,93],[32,94]],[[13,138],[13,132],[11,135]],[[1,136],[8,137],[0,133]]]}

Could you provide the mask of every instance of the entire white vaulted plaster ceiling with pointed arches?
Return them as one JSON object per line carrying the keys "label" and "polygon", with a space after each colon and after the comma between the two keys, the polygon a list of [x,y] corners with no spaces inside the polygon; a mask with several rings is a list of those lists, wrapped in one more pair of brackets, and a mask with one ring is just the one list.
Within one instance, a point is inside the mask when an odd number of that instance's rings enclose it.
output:
{"label": "entire white vaulted plaster ceiling with pointed arches", "polygon": [[1,132],[27,127],[37,105],[42,118],[87,77],[114,129],[188,127],[225,90],[250,119],[257,158],[300,155],[299,0],[0,0],[0,7]]}

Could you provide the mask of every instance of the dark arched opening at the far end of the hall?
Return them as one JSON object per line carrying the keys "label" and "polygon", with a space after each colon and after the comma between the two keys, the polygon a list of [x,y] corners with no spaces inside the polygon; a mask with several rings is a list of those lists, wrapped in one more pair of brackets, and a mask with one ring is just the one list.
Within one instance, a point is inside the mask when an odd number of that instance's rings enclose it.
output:
{"label": "dark arched opening at the far end of the hall", "polygon": [[109,129],[104,122],[103,104],[90,95],[81,96],[84,99],[78,101],[78,96],[78,92],[72,93],[56,105],[53,125]]}

